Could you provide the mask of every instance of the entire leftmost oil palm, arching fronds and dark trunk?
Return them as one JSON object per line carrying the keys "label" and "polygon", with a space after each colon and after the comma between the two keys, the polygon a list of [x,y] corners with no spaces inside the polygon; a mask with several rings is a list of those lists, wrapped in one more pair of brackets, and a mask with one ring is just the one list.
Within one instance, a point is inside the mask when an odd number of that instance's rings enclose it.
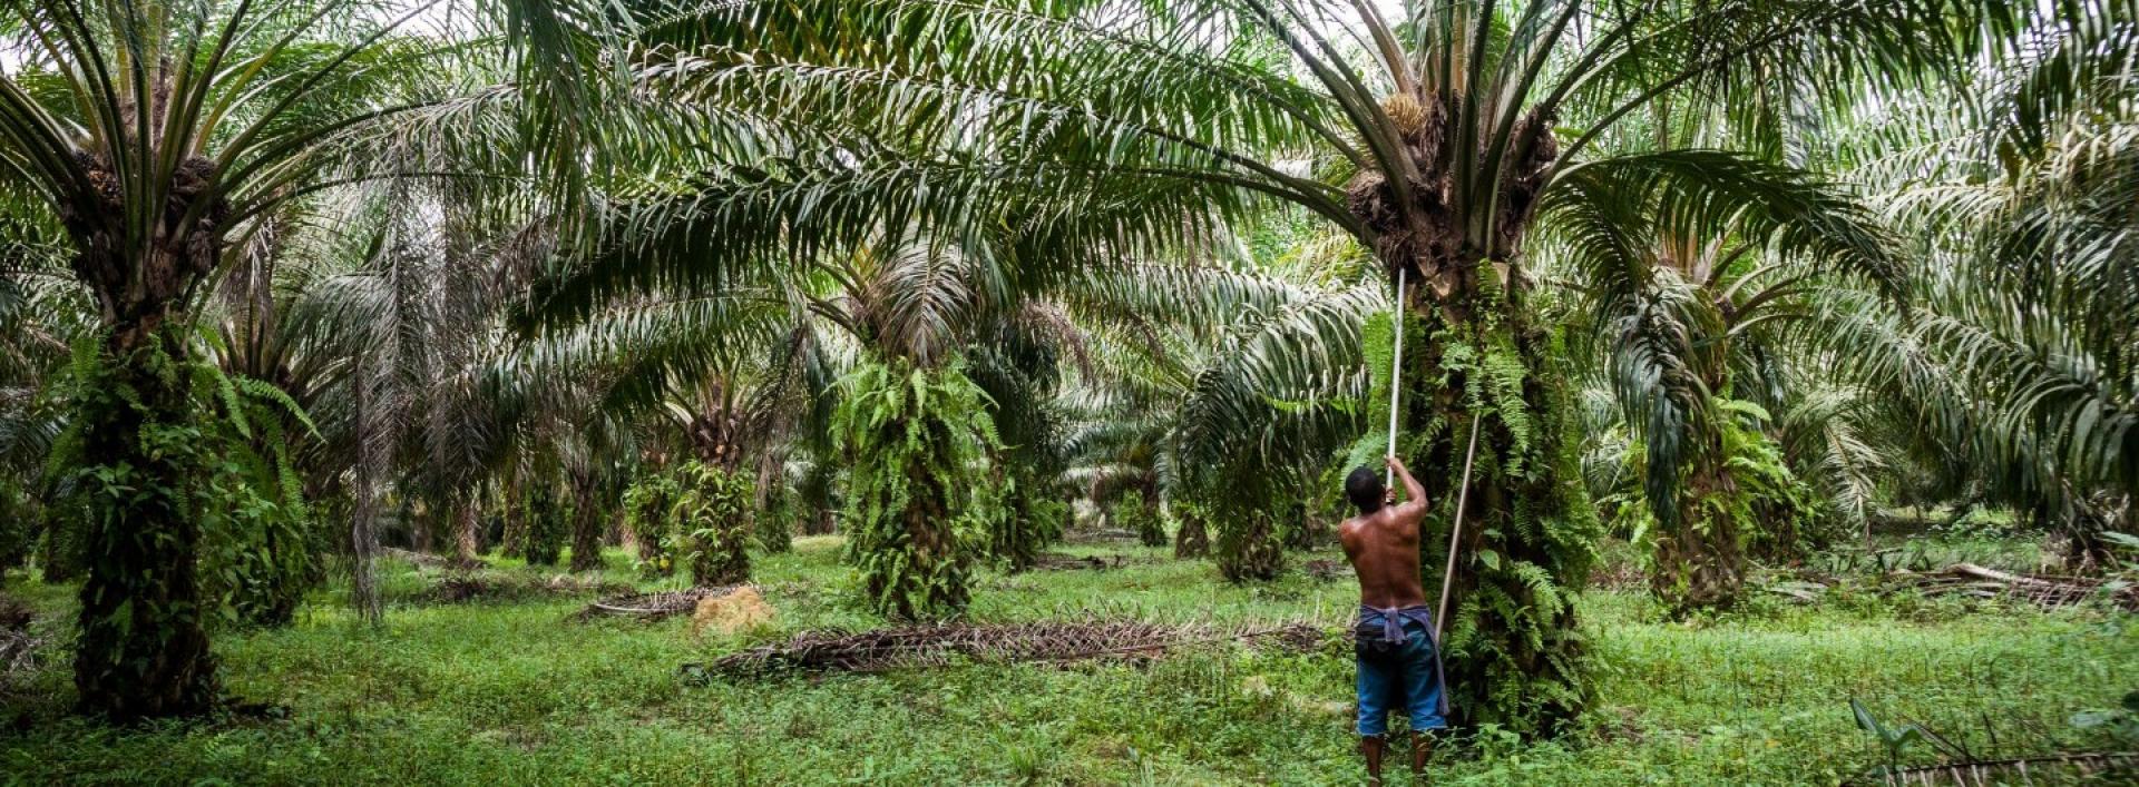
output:
{"label": "entire leftmost oil palm, arching fronds and dark trunk", "polygon": [[[443,38],[396,28],[421,9],[321,2],[160,4],[62,0],[17,4],[0,79],[0,160],[71,246],[94,299],[98,372],[73,402],[79,456],[94,475],[81,590],[81,706],[116,719],[197,712],[216,695],[195,577],[199,524],[190,466],[158,441],[184,441],[195,415],[190,319],[231,259],[272,229],[284,203],[334,184],[449,171],[515,173],[526,160],[501,126],[441,122],[464,113]],[[578,109],[588,88],[548,94],[582,60],[545,4],[490,9],[496,66],[518,64],[520,90],[494,107]],[[599,17],[597,17],[599,19]],[[462,115],[466,118],[466,115]],[[571,124],[528,113],[537,143],[571,141]],[[511,124],[507,124],[511,126]],[[513,130],[520,130],[513,128]],[[554,152],[569,145],[550,145]],[[383,154],[398,150],[402,154]],[[419,150],[419,156],[406,156]]]}

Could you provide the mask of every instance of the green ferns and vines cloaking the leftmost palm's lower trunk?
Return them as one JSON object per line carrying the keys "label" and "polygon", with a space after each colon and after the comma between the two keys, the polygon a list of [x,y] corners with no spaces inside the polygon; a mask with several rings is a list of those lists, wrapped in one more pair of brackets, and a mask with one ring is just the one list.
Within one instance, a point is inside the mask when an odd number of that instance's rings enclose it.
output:
{"label": "green ferns and vines cloaking the leftmost palm's lower trunk", "polygon": [[[158,331],[124,355],[75,346],[73,426],[47,475],[86,565],[75,689],[118,721],[195,714],[218,695],[210,614],[280,624],[319,580],[282,391],[186,361]],[[203,406],[205,404],[205,406]]]}

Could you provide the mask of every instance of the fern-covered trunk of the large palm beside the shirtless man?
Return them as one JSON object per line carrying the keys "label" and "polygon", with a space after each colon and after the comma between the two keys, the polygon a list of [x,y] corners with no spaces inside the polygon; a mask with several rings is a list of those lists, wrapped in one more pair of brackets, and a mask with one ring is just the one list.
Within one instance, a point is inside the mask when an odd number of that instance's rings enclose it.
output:
{"label": "fern-covered trunk of the large palm beside the shirtless man", "polygon": [[1581,485],[1566,351],[1551,319],[1502,284],[1504,267],[1440,269],[1459,269],[1457,287],[1410,299],[1399,451],[1433,500],[1420,550],[1440,588],[1478,430],[1444,624],[1450,701],[1461,725],[1551,734],[1589,699],[1574,597],[1602,535]]}

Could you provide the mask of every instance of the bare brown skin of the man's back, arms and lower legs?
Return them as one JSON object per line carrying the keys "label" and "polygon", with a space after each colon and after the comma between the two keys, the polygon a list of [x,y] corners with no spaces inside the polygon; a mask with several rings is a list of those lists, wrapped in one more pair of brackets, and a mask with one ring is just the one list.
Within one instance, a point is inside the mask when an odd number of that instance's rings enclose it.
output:
{"label": "bare brown skin of the man's back, arms and lower legs", "polygon": [[[1395,609],[1427,603],[1427,588],[1418,580],[1418,522],[1427,518],[1427,488],[1418,485],[1412,470],[1403,468],[1395,456],[1384,460],[1403,481],[1401,505],[1397,490],[1388,490],[1382,507],[1343,520],[1337,539],[1358,575],[1358,601],[1369,607]],[[1358,751],[1367,755],[1367,783],[1382,783],[1382,738],[1360,738]],[[1425,783],[1427,755],[1433,751],[1425,731],[1412,731],[1412,778]]]}

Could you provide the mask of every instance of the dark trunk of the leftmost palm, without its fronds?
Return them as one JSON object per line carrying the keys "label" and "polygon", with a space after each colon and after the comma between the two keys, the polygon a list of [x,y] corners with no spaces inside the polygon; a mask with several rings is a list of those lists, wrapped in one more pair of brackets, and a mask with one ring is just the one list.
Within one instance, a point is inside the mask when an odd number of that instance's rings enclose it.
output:
{"label": "dark trunk of the leftmost palm, without its fronds", "polygon": [[[167,79],[167,71],[152,79]],[[77,404],[81,460],[118,475],[83,490],[77,701],[118,721],[197,714],[218,691],[195,575],[201,526],[188,511],[186,462],[199,458],[186,453],[190,445],[152,441],[190,421],[186,344],[167,323],[220,265],[231,205],[216,190],[212,160],[180,158],[163,184],[163,210],[148,210],[148,222],[137,225],[141,212],[128,210],[120,178],[128,167],[86,150],[75,152],[75,165],[92,188],[60,201],[58,218],[105,331],[101,379]]]}

